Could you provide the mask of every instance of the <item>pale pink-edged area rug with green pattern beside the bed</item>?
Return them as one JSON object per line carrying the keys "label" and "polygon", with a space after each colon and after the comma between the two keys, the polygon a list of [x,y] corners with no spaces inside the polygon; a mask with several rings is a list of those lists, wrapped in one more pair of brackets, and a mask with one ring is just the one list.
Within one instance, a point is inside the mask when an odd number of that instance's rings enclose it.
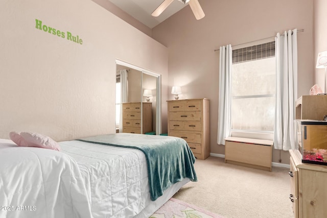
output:
{"label": "pale pink-edged area rug with green pattern beside the bed", "polygon": [[223,218],[212,212],[201,209],[195,205],[182,202],[180,200],[171,198],[164,205],[162,205],[150,218],[180,218],[180,217],[194,217],[194,218]]}

